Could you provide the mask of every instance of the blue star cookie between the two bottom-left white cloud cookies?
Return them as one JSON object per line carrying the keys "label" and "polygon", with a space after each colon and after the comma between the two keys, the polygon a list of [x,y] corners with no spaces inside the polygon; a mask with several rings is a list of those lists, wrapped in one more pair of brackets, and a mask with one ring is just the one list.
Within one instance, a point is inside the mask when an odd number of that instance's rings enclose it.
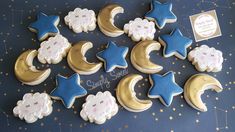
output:
{"label": "blue star cookie between the two bottom-left white cloud cookies", "polygon": [[75,73],[69,78],[57,75],[57,87],[51,92],[53,99],[62,100],[66,108],[71,108],[75,99],[87,94],[86,89],[80,85],[80,76]]}

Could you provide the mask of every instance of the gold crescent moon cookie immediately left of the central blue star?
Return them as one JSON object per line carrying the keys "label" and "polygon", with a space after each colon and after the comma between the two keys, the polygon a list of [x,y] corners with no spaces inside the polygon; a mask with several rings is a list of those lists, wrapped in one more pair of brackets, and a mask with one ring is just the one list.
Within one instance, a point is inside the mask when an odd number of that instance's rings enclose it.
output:
{"label": "gold crescent moon cookie immediately left of the central blue star", "polygon": [[102,63],[90,63],[87,62],[84,56],[93,45],[88,41],[80,41],[76,43],[70,50],[67,56],[67,61],[75,72],[81,75],[90,75],[97,72],[101,67]]}

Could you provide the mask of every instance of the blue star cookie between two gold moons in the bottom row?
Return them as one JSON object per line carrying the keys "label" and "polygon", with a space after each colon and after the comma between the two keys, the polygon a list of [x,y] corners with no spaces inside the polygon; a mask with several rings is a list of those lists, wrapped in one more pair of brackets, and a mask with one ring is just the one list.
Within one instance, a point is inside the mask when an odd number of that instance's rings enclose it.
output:
{"label": "blue star cookie between two gold moons in the bottom row", "polygon": [[167,72],[163,76],[158,74],[149,75],[151,88],[149,89],[149,98],[160,98],[165,106],[170,106],[173,97],[183,92],[183,89],[175,82],[174,73]]}

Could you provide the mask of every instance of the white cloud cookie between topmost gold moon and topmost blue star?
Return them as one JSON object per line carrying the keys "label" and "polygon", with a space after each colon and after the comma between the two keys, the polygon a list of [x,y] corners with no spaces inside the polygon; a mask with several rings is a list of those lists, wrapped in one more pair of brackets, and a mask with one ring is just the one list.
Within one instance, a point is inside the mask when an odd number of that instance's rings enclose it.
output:
{"label": "white cloud cookie between topmost gold moon and topmost blue star", "polygon": [[156,32],[153,22],[147,19],[135,18],[124,25],[124,32],[128,34],[133,41],[153,40]]}

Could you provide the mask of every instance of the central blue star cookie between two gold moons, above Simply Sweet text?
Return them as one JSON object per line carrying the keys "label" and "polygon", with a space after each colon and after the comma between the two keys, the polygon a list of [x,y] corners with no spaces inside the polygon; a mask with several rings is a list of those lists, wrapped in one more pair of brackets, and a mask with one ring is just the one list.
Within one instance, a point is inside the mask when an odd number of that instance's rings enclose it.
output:
{"label": "central blue star cookie between two gold moons, above Simply Sweet text", "polygon": [[125,57],[128,47],[118,47],[114,42],[109,41],[105,50],[96,54],[97,58],[105,63],[105,71],[111,72],[116,67],[127,68]]}

